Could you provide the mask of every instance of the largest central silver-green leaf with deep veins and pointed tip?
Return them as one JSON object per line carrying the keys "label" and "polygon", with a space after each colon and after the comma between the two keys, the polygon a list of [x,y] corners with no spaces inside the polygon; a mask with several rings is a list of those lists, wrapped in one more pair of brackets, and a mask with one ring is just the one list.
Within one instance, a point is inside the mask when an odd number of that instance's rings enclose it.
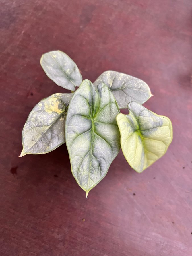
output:
{"label": "largest central silver-green leaf with deep veins and pointed tip", "polygon": [[65,138],[71,171],[88,192],[106,175],[120,149],[117,102],[104,84],[84,80],[69,104]]}

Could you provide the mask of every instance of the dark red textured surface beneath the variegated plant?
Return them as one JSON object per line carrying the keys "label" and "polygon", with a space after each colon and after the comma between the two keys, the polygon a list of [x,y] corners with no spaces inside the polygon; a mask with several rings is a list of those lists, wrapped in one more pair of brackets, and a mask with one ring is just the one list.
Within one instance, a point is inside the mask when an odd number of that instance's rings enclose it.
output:
{"label": "dark red textured surface beneath the variegated plant", "polygon": [[[192,255],[191,7],[190,0],[1,0],[1,256]],[[66,92],[39,64],[56,49],[84,79],[109,69],[143,79],[154,94],[144,106],[173,123],[165,156],[137,174],[120,152],[88,199],[65,144],[18,158],[34,105]]]}

